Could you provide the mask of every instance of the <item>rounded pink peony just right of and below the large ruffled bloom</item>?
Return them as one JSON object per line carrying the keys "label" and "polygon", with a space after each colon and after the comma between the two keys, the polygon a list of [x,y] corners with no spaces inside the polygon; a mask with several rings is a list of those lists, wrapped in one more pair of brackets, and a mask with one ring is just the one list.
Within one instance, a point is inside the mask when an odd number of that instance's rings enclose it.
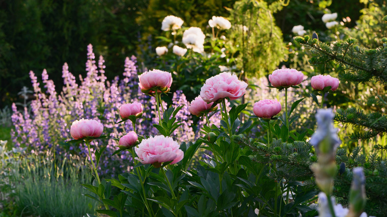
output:
{"label": "rounded pink peony just right of and below the large ruffled bloom", "polygon": [[281,111],[281,104],[275,100],[260,100],[254,104],[254,114],[261,118],[271,118]]}

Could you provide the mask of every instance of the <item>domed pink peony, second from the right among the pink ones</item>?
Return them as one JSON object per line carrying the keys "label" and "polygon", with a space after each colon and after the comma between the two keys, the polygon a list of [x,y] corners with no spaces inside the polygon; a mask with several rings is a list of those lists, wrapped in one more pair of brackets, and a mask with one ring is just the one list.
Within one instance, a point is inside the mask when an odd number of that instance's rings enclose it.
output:
{"label": "domed pink peony, second from the right among the pink ones", "polygon": [[273,87],[291,87],[300,84],[303,80],[304,74],[293,68],[277,69],[269,75],[269,81]]}

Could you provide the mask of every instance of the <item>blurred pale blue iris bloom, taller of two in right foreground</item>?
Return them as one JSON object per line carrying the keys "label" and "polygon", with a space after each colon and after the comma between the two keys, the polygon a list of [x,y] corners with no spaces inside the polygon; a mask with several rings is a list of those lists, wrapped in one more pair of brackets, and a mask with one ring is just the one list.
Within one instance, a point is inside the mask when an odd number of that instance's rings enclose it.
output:
{"label": "blurred pale blue iris bloom, taller of two in right foreground", "polygon": [[315,147],[318,153],[335,153],[341,143],[337,136],[337,129],[332,124],[333,117],[332,109],[319,109],[317,111],[317,130],[309,143]]}

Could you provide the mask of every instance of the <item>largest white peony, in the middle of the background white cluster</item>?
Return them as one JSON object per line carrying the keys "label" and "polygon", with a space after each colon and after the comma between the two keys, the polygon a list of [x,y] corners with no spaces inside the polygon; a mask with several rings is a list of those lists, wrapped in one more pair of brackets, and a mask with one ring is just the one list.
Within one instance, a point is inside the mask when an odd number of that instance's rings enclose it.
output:
{"label": "largest white peony, in the middle of the background white cluster", "polygon": [[203,53],[204,52],[204,38],[205,35],[198,27],[190,27],[183,33],[183,44],[187,48],[192,48],[194,52]]}

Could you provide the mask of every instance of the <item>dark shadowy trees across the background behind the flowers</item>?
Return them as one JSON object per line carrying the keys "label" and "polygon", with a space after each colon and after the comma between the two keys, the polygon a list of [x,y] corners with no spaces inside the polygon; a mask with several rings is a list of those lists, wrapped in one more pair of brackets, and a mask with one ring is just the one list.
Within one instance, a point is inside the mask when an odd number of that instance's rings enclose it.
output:
{"label": "dark shadowy trees across the background behind the flowers", "polygon": [[[272,3],[275,0],[267,0]],[[363,0],[364,1],[364,0]],[[0,108],[21,102],[17,93],[31,89],[30,70],[47,69],[57,91],[62,89],[62,65],[77,77],[84,72],[86,47],[106,60],[106,76],[122,73],[132,54],[149,67],[167,15],[181,17],[184,26],[205,27],[213,16],[229,17],[235,0],[0,0]],[[286,2],[285,2],[286,3]],[[366,4],[354,0],[290,0],[274,14],[285,41],[294,25],[325,31],[325,10],[351,18],[354,26]],[[285,51],[284,51],[285,52]],[[286,52],[285,52],[286,53]],[[152,58],[153,57],[153,58]]]}

